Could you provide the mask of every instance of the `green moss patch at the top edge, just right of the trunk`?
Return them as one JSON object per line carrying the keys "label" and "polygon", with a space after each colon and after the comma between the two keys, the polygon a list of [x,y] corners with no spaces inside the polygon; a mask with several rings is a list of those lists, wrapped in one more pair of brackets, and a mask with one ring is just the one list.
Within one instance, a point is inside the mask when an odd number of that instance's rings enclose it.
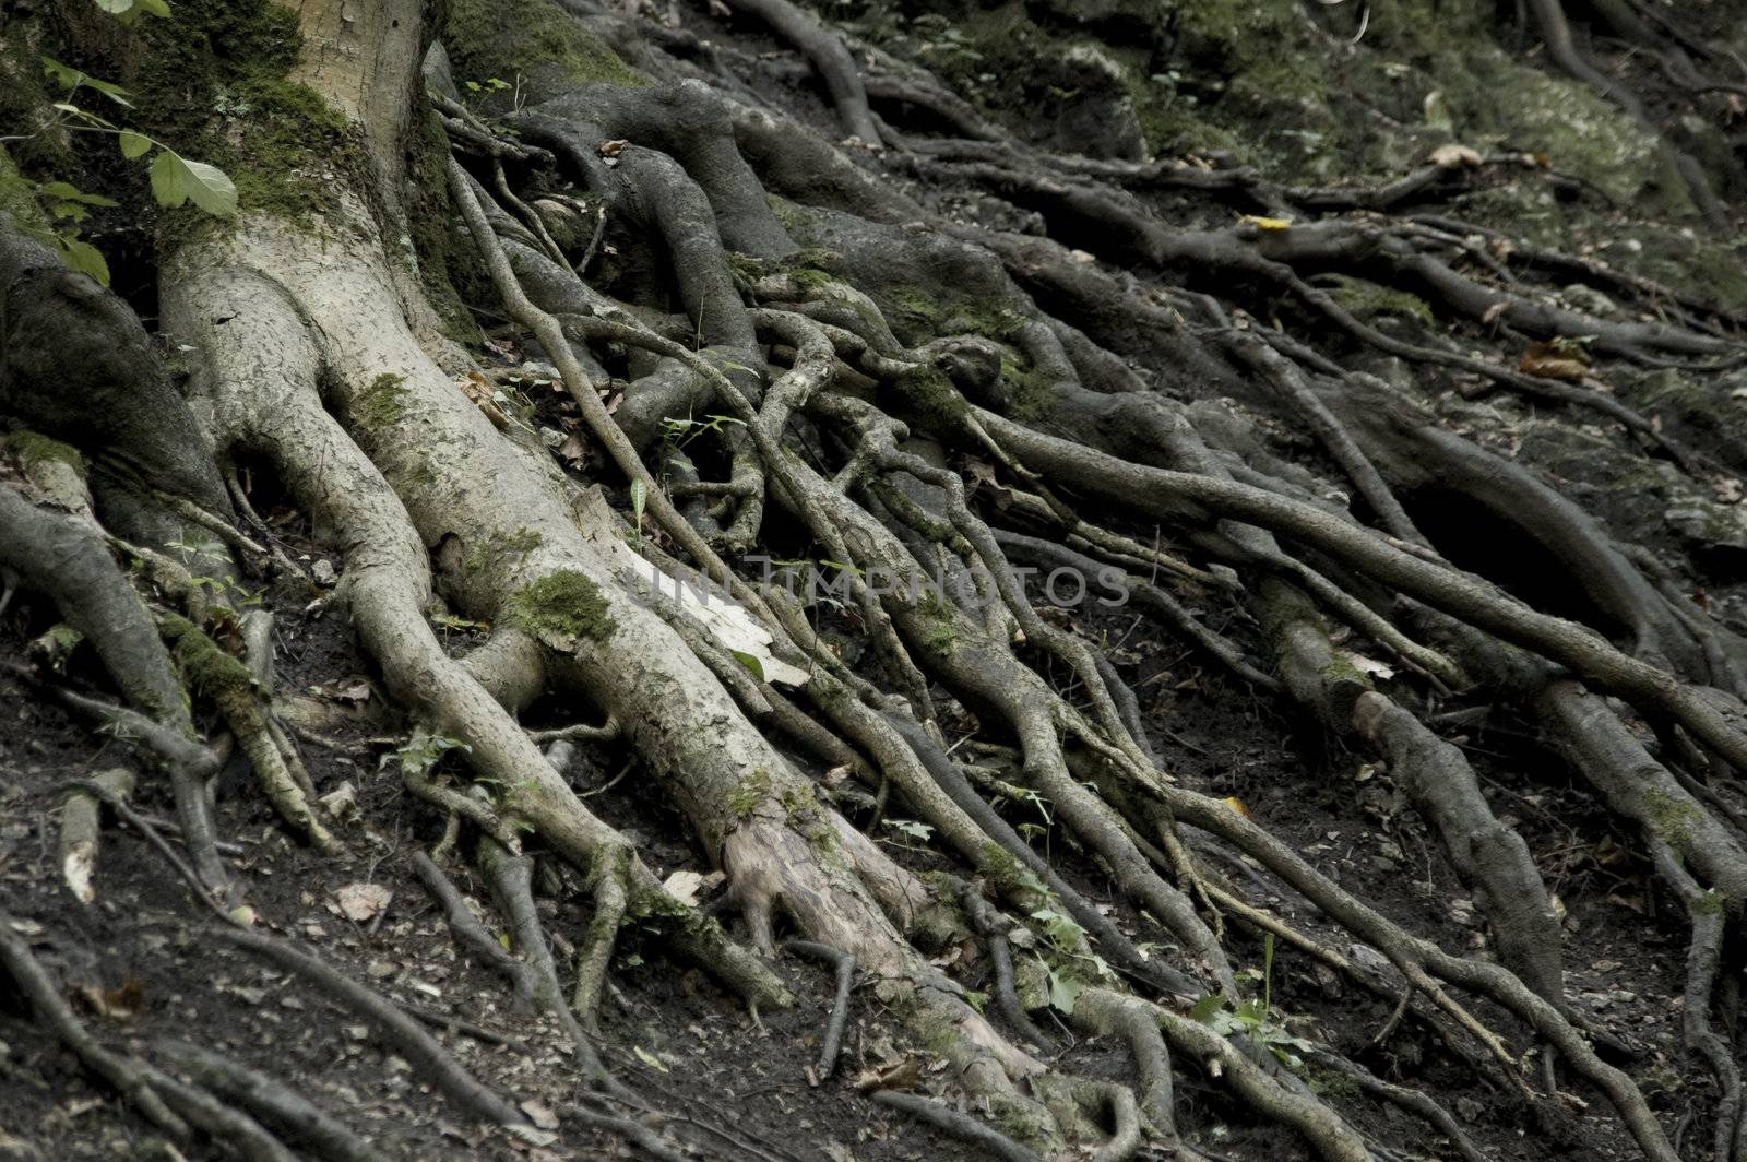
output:
{"label": "green moss patch at the top edge, just right of the trunk", "polygon": [[573,82],[648,84],[554,0],[456,0],[444,44],[461,82],[547,70]]}

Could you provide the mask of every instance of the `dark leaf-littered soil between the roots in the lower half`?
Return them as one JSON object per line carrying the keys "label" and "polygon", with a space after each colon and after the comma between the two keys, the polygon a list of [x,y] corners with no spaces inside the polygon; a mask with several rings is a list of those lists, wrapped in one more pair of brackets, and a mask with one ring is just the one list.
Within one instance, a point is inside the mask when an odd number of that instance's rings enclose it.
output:
{"label": "dark leaf-littered soil between the roots in the lower half", "polygon": [[[283,547],[293,557],[320,552],[287,521]],[[285,587],[264,592],[280,633],[280,664],[287,688],[334,701],[356,718],[330,741],[304,744],[311,776],[323,793],[351,786],[365,840],[349,858],[321,856],[295,842],[259,795],[243,792],[236,769],[220,778],[218,821],[238,847],[229,854],[250,884],[250,898],[269,930],[311,942],[335,966],[369,980],[398,1003],[426,1013],[459,1061],[498,1092],[561,1108],[575,1083],[563,1038],[549,1019],[514,1012],[496,977],[458,951],[407,858],[418,835],[440,828],[433,809],[405,793],[388,758],[405,741],[400,725],[376,716],[379,697],[346,624],[320,608],[321,591]],[[17,655],[52,613],[23,603],[0,622],[0,655]],[[1066,615],[1064,615],[1066,617]],[[1078,613],[1074,615],[1078,617]],[[1221,626],[1237,641],[1253,636],[1240,615]],[[1150,620],[1122,610],[1099,610],[1090,633],[1104,634],[1111,659],[1141,697],[1151,743],[1165,769],[1184,786],[1232,797],[1260,823],[1293,842],[1335,881],[1363,889],[1384,914],[1422,931],[1448,949],[1476,951],[1487,944],[1485,921],[1469,891],[1448,867],[1436,837],[1405,809],[1387,771],[1345,750],[1328,750],[1315,732],[1298,730],[1267,699],[1204,667]],[[458,631],[456,647],[465,645]],[[86,674],[96,678],[96,674]],[[73,673],[73,678],[80,674]],[[529,716],[538,727],[538,715]],[[1679,1045],[1679,996],[1684,931],[1677,912],[1658,921],[1647,868],[1630,856],[1632,835],[1572,788],[1560,764],[1537,755],[1532,737],[1508,722],[1485,718],[1450,734],[1481,778],[1494,764],[1506,771],[1539,771],[1546,781],[1488,779],[1488,797],[1501,818],[1518,827],[1537,856],[1550,889],[1567,909],[1567,991],[1597,1024],[1632,1045],[1639,1076],[1658,1115],[1679,1122],[1693,1108]],[[187,888],[168,874],[161,856],[126,828],[103,849],[98,902],[68,907],[56,865],[58,811],[65,785],[89,778],[112,760],[119,744],[86,722],[40,697],[30,697],[12,676],[0,674],[0,909],[24,924],[52,923],[63,937],[49,963],[86,1001],[98,1029],[126,1038],[178,1038],[217,1047],[232,1057],[273,1068],[283,1080],[349,1120],[390,1157],[632,1157],[622,1141],[601,1136],[575,1148],[538,1148],[484,1138],[461,1120],[444,1120],[430,1089],[411,1078],[407,1062],[363,1036],[363,1026],[285,973],[250,958],[213,947],[190,924]],[[674,840],[683,833],[673,809],[639,767],[608,744],[585,748],[568,771],[577,790],[615,827],[638,835],[659,875],[708,874],[701,854]],[[797,762],[805,762],[797,757]],[[138,807],[157,818],[173,814],[168,792],[147,785]],[[1024,814],[1015,813],[1015,821]],[[887,825],[891,820],[886,821]],[[949,867],[901,828],[880,827],[887,849],[914,870]],[[1038,839],[1039,851],[1090,898],[1118,917],[1129,933],[1150,928],[1113,905],[1106,877],[1081,853]],[[1233,870],[1242,881],[1246,872]],[[1267,888],[1254,875],[1258,902],[1281,909],[1307,933],[1329,940],[1350,956],[1377,956],[1350,942],[1289,893]],[[348,889],[370,884],[388,902],[363,919],[348,917]],[[480,882],[463,891],[489,900]],[[704,889],[706,893],[709,888]],[[540,902],[547,930],[577,931],[587,912],[554,896]],[[708,898],[708,896],[706,896]],[[367,912],[374,905],[367,905]],[[1249,940],[1244,972],[1260,979],[1263,949]],[[975,951],[954,949],[961,965],[947,965],[968,987],[985,984],[987,965]],[[1378,958],[1380,959],[1380,958]],[[809,1066],[830,1010],[832,982],[823,968],[784,958],[779,973],[798,1003],[753,1019],[748,1010],[695,968],[667,958],[655,940],[627,930],[613,963],[610,999],[603,1006],[603,1047],[608,1062],[638,1092],[667,1110],[702,1111],[746,1139],[779,1146],[798,1159],[832,1162],[924,1160],[968,1157],[966,1146],[942,1138],[874,1104],[858,1085],[893,1069],[929,1068],[929,1055],[910,1043],[880,1001],[858,989],[837,1076],[812,1085]],[[1410,1080],[1438,1092],[1464,1129],[1494,1159],[1530,1159],[1541,1145],[1525,1145],[1513,1127],[1513,1103],[1490,1080],[1476,1076],[1448,1054],[1424,1043],[1424,1033],[1398,1029],[1387,1050],[1366,1052],[1389,1022],[1391,1006],[1354,993],[1326,966],[1291,949],[1272,961],[1272,998],[1289,1029],[1352,1054],[1387,1080]],[[1487,1013],[1487,1006],[1480,1008]],[[459,1022],[444,1024],[444,1019]],[[473,1026],[472,1031],[466,1026]],[[344,1033],[351,1027],[355,1033]],[[335,1029],[342,1036],[335,1036]],[[543,1038],[533,1036],[545,1034]],[[1057,1038],[1045,1055],[1085,1076],[1120,1076],[1127,1048],[1120,1038],[1080,1038],[1055,1022]],[[335,1041],[344,1048],[335,1057]],[[1331,1080],[1340,1085],[1338,1080]],[[1230,1099],[1195,1080],[1179,1082],[1181,1129],[1191,1145],[1212,1155],[1263,1162],[1312,1157],[1291,1132],[1247,1122]],[[65,1050],[0,1006],[0,1131],[21,1131],[49,1159],[136,1157],[136,1145],[154,1138],[126,1103],[91,1083]],[[1368,1132],[1410,1143],[1434,1155],[1426,1129],[1391,1106],[1371,1108]],[[1572,1143],[1585,1159],[1633,1157],[1635,1146],[1609,1120]],[[587,1141],[587,1132],[571,1129]],[[0,1159],[23,1162],[28,1153]],[[213,1153],[210,1157],[222,1157]],[[781,1157],[781,1155],[779,1155]]]}

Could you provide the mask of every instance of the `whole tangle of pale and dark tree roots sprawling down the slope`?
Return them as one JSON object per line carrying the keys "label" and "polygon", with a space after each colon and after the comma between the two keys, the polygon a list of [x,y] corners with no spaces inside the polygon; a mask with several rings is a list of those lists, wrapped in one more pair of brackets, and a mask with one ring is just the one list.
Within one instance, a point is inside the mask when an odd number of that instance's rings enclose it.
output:
{"label": "whole tangle of pale and dark tree roots sprawling down the slope", "polygon": [[[344,28],[337,5],[313,7],[321,10],[307,28],[341,40],[360,35]],[[1204,287],[1237,280],[1256,297],[1281,294],[1354,342],[1593,409],[1682,468],[1709,467],[1609,395],[1361,322],[1310,273],[1338,267],[1410,283],[1459,315],[1546,337],[1592,335],[1597,351],[1646,360],[1738,358],[1742,344],[1719,313],[1682,304],[1684,325],[1595,320],[1459,269],[1441,227],[1426,222],[1410,229],[1336,213],[1284,231],[1179,231],[1137,194],[1172,185],[1265,208],[1385,213],[1452,180],[1450,166],[1378,190],[1314,190],[1164,163],[1050,157],[922,70],[861,47],[879,61],[863,77],[835,33],[783,0],[737,7],[807,54],[844,128],[886,147],[882,164],[1034,210],[1052,229],[1095,238],[1102,257],[1144,264],[1155,283],[1160,273],[1183,273]],[[1560,7],[1537,3],[1536,14],[1555,59],[1592,80],[1569,37],[1555,35]],[[641,38],[620,17],[589,19]],[[398,171],[407,110],[358,105],[356,94],[411,86],[418,21],[369,28],[391,51],[344,58],[332,73],[311,68],[309,80],[358,122],[379,166]],[[666,44],[685,47],[683,37]],[[344,552],[339,598],[414,723],[402,778],[449,820],[435,858],[416,853],[414,870],[456,938],[500,970],[522,1003],[559,1019],[596,1096],[585,1101],[629,1101],[590,1040],[624,924],[652,923],[753,1012],[793,999],[769,963],[779,931],[791,928],[802,940],[786,947],[839,970],[818,1075],[835,1068],[851,984],[867,973],[915,1038],[950,1064],[950,1083],[998,1115],[999,1129],[914,1096],[877,1097],[1006,1157],[1094,1141],[1097,1157],[1120,1162],[1143,1139],[1183,1146],[1174,1059],[1291,1125],[1322,1157],[1359,1162],[1385,1152],[1282,1068],[1260,1033],[1218,1024],[1216,1015],[1256,1012],[1233,970],[1232,935],[1244,928],[1389,996],[1391,1027],[1427,1024],[1518,1101],[1565,1117],[1551,1066],[1532,1078],[1525,1047],[1513,1045],[1527,1031],[1548,1047],[1544,1061],[1557,1057],[1605,1096],[1646,1157],[1674,1162],[1644,1094],[1597,1054],[1565,1001],[1560,926],[1527,844],[1495,818],[1462,751],[1422,718],[1427,694],[1476,688],[1532,716],[1609,807],[1644,832],[1658,874],[1686,909],[1684,1036],[1717,1080],[1714,1143],[1726,1157],[1742,1132],[1742,1085],[1710,1010],[1726,931],[1747,903],[1747,839],[1717,776],[1747,769],[1737,701],[1747,680],[1744,645],[1530,472],[1447,432],[1382,381],[1198,290],[1157,283],[1157,294],[1134,295],[1048,238],[938,218],[798,124],[742,103],[732,54],[687,63],[643,49],[639,59],[655,72],[648,87],[549,93],[529,82],[533,103],[508,117],[519,140],[458,93],[435,94],[454,145],[472,152],[468,164],[444,156],[435,166],[459,218],[454,241],[477,255],[507,316],[556,365],[582,432],[629,484],[631,519],[561,468],[528,416],[456,388],[458,353],[428,334],[421,302],[409,306],[414,280],[388,245],[405,227],[398,194],[341,189],[318,234],[245,215],[224,236],[180,245],[162,278],[162,323],[194,348],[196,407],[187,416],[201,418],[218,461],[246,456],[276,474]],[[426,72],[435,89],[447,75],[438,65],[433,58]],[[868,107],[870,94],[928,108],[963,138],[894,131]],[[550,185],[550,173],[528,173],[540,164],[556,164],[597,199],[592,231],[566,218],[575,218],[573,201],[517,189],[512,171]],[[603,245],[629,252],[638,274],[611,285],[632,301],[615,301],[577,273]],[[1654,292],[1618,280],[1611,287]],[[666,315],[674,304],[683,318]],[[1303,425],[1382,531],[1331,505],[1324,481],[1272,458],[1235,414],[1214,421],[1200,405],[1150,391],[1146,376],[1165,363],[1200,369]],[[617,412],[603,398],[608,367],[631,379]],[[664,428],[694,425],[699,414],[711,416],[701,442],[664,439]],[[183,507],[173,512],[190,528],[225,531],[222,552],[257,550],[229,533],[229,501],[211,488],[218,475],[196,472],[189,484],[187,472],[161,474],[159,488],[180,479]],[[1593,605],[1626,627],[1628,648],[1440,557],[1440,529],[1422,529],[1398,496],[1431,479],[1572,563]],[[1097,517],[1088,517],[1088,500],[1102,507]],[[1146,543],[1132,521],[1172,529],[1181,547]],[[131,729],[171,769],[194,865],[164,851],[217,914],[248,919],[217,856],[203,786],[213,758],[194,741],[183,690],[218,711],[295,830],[323,851],[344,842],[316,809],[316,788],[274,718],[260,622],[192,584],[187,559],[105,540],[89,496],[65,479],[0,488],[0,533],[10,533],[0,542],[9,584],[17,577],[56,596],[129,706],[63,697]],[[797,542],[840,570],[842,610],[867,641],[854,664],[790,594],[755,587],[725,559]],[[138,580],[117,568],[112,549],[133,554]],[[1502,963],[1452,956],[1403,930],[1261,823],[1179,786],[1136,694],[1078,627],[1034,608],[1017,561],[1125,578],[1167,570],[1202,594],[1242,601],[1261,627],[1272,673],[1197,622],[1164,585],[1136,589],[1141,606],[1193,648],[1391,765],[1480,893]],[[54,571],[68,563],[79,585]],[[908,584],[915,578],[935,584],[919,589]],[[681,580],[722,584],[737,603],[711,613],[683,596]],[[452,657],[426,617],[437,594],[489,624],[489,641]],[[232,654],[231,631],[253,643],[246,661]],[[1354,636],[1403,676],[1385,681],[1378,664],[1359,667],[1342,645]],[[51,654],[45,647],[44,657]],[[596,816],[540,751],[519,715],[547,692],[585,702],[589,713],[577,720],[604,715],[610,737],[660,781],[727,874],[744,942],[671,895],[632,840]],[[1670,746],[1653,751],[1639,718]],[[994,765],[970,764],[970,751],[949,746],[949,722],[973,722]],[[809,778],[776,737],[818,757],[832,778]],[[407,758],[437,755],[438,743],[459,762]],[[1675,753],[1679,764],[1668,757]],[[867,786],[833,786],[842,776]],[[1046,804],[1059,833],[1108,872],[1170,954],[1150,952],[1155,940],[1104,916],[1003,818],[992,793]],[[96,802],[133,820],[126,795],[115,781],[96,781],[66,800],[63,867],[75,891],[96,874]],[[846,818],[851,806],[872,804],[877,820],[893,799],[977,879],[919,877]],[[491,886],[514,954],[444,870],[456,854],[470,856]],[[571,865],[592,905],[587,930],[566,938],[577,947],[571,965],[554,956],[535,907],[538,858]],[[1228,865],[1247,879],[1223,875]],[[1253,886],[1296,895],[1389,968],[1258,907]],[[1015,968],[1013,942],[1039,935],[1013,916],[1041,921],[1048,965],[1029,958]],[[459,1108],[522,1125],[407,1013],[271,937],[225,930],[222,938],[379,1020]],[[929,963],[924,949],[954,940],[987,947],[999,1020]],[[204,1085],[192,1090],[98,1045],[56,1008],[52,984],[3,917],[0,956],[58,1036],[166,1131],[194,1124],[257,1157],[283,1157],[281,1145],[257,1134],[248,1108],[302,1118],[332,1153],[367,1157],[344,1127],[236,1062],[159,1047]],[[1039,1055],[1050,1036],[1027,1013],[1041,991],[1032,961],[1078,1029],[1129,1048],[1132,1085],[1088,1082]],[[1473,1155],[1431,1096],[1328,1048],[1312,1052]],[[603,1110],[585,1106],[577,1117],[613,1124],[657,1155],[667,1150],[648,1127]]]}

